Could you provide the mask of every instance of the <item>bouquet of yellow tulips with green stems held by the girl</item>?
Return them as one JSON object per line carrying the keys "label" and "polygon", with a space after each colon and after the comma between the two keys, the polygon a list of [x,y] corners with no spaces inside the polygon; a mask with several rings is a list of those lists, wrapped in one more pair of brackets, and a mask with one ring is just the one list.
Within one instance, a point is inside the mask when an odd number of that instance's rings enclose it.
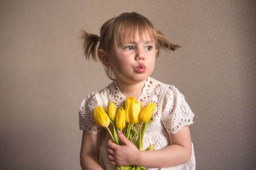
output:
{"label": "bouquet of yellow tulips with green stems held by the girl", "polygon": [[[102,106],[94,109],[94,119],[96,123],[107,129],[113,141],[121,145],[118,138],[118,130],[124,131],[124,136],[133,142],[134,137],[138,136],[136,146],[139,150],[143,149],[143,136],[146,126],[152,121],[151,115],[154,111],[155,104],[148,103],[141,109],[139,101],[134,97],[126,99],[124,106],[121,106],[116,111],[116,106],[113,102],[109,102],[108,112],[105,112]],[[109,129],[109,124],[112,124],[112,129]],[[134,125],[139,124],[139,131],[137,132]],[[152,151],[155,145],[149,146],[146,150]],[[137,166],[118,166],[117,170],[145,170],[144,167]]]}

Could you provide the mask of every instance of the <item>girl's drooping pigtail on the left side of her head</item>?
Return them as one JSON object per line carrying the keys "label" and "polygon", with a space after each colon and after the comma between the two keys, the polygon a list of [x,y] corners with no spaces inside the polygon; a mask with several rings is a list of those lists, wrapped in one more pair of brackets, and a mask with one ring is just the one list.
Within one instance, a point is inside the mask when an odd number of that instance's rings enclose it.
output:
{"label": "girl's drooping pigtail on the left side of her head", "polygon": [[88,60],[91,55],[93,60],[97,61],[96,52],[99,36],[96,34],[88,34],[83,31],[81,38],[84,40],[83,49],[85,58]]}

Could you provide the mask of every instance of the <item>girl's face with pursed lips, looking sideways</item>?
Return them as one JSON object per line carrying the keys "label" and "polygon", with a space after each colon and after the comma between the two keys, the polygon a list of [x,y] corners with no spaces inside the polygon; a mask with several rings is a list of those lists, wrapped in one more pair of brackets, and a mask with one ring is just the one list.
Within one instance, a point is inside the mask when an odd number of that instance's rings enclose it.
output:
{"label": "girl's face with pursed lips, looking sideways", "polygon": [[156,52],[148,34],[123,40],[109,57],[116,79],[127,84],[145,81],[155,68]]}

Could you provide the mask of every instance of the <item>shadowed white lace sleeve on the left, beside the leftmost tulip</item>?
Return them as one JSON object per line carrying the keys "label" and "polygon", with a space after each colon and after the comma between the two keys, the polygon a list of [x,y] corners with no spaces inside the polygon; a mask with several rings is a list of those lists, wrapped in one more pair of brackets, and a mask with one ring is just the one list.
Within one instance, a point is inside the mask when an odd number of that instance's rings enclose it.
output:
{"label": "shadowed white lace sleeve on the left, beside the leftmost tulip", "polygon": [[102,129],[93,118],[93,109],[99,106],[98,92],[89,94],[79,107],[79,129],[89,133],[97,134]]}

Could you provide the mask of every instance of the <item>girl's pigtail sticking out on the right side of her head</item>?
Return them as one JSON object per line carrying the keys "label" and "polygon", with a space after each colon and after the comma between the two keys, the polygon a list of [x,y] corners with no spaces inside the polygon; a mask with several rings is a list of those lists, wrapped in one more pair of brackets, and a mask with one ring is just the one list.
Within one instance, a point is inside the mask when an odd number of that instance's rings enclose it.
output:
{"label": "girl's pigtail sticking out on the right side of her head", "polygon": [[170,43],[169,40],[166,39],[165,36],[160,31],[157,31],[157,41],[158,49],[175,51],[177,48],[181,47],[179,45]]}

